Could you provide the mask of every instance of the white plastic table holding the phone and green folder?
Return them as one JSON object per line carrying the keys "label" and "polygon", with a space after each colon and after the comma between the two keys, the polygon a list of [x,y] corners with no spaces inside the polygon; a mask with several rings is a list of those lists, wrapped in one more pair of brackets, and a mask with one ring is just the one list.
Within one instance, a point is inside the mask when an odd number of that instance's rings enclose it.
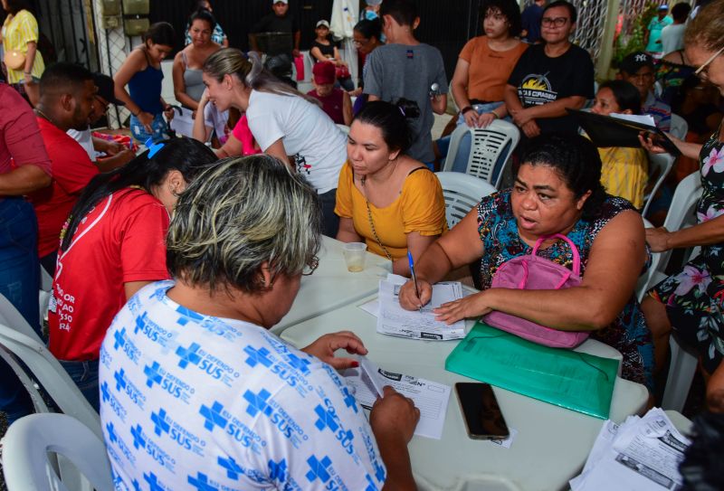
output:
{"label": "white plastic table holding the phone and green folder", "polygon": [[[329,311],[281,333],[292,345],[305,346],[319,335],[350,329],[362,338],[370,360],[381,368],[453,385],[472,379],[444,370],[457,341],[418,341],[378,335],[376,318],[358,308],[375,296]],[[472,323],[470,323],[472,326]],[[620,359],[614,348],[588,340],[578,348]],[[581,470],[603,420],[536,401],[497,387],[495,394],[508,426],[518,430],[510,449],[468,438],[454,391],[445,418],[443,439],[414,437],[410,456],[420,489],[555,490]],[[648,398],[638,383],[616,378],[610,418],[623,421],[642,412]]]}

